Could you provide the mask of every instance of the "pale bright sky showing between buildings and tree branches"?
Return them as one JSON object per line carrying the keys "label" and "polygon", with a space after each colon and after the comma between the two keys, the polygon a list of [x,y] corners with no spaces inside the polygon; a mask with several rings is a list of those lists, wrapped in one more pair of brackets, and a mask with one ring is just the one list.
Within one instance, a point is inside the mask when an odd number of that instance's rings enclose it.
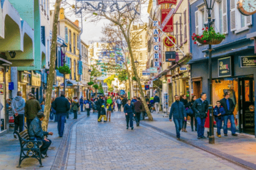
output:
{"label": "pale bright sky showing between buildings and tree branches", "polygon": [[[63,0],[65,1],[65,0]],[[75,0],[66,0],[69,4],[75,4]],[[53,5],[55,4],[55,0],[50,0],[50,9],[54,10]],[[146,4],[141,5],[141,20],[143,22],[148,22],[148,13],[147,13],[147,8],[148,8],[148,0]],[[65,13],[68,11],[65,10]],[[81,27],[81,18],[76,18],[75,14],[68,14],[66,15],[67,18],[69,18],[71,21],[78,20],[79,21],[79,26]],[[83,33],[81,36],[81,39],[86,43],[89,44],[90,41],[98,41],[102,37],[102,26],[104,24],[110,23],[108,20],[100,20],[97,22],[89,22],[85,21],[85,18],[83,18]],[[142,22],[141,22],[142,23]]]}

